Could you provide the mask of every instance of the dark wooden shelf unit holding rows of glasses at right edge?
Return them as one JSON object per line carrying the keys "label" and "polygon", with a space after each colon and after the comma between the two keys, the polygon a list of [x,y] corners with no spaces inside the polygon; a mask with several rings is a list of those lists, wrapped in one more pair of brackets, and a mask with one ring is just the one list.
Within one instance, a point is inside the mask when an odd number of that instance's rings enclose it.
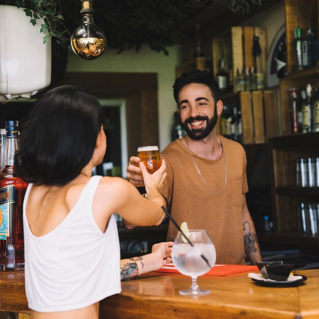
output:
{"label": "dark wooden shelf unit holding rows of glasses at right edge", "polygon": [[319,156],[319,133],[295,134],[269,139],[272,172],[272,210],[276,234],[283,240],[289,235],[300,237],[301,246],[319,246],[319,236],[302,232],[301,202],[319,202],[318,187],[297,187],[296,164],[300,157]]}

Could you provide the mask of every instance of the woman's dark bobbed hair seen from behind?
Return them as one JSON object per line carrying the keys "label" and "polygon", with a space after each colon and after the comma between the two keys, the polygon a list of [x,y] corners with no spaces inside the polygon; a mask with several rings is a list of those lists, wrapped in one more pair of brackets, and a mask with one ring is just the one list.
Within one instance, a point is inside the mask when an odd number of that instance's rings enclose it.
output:
{"label": "woman's dark bobbed hair seen from behind", "polygon": [[46,92],[23,125],[18,175],[37,185],[70,182],[89,163],[101,123],[101,105],[84,89],[68,85]]}

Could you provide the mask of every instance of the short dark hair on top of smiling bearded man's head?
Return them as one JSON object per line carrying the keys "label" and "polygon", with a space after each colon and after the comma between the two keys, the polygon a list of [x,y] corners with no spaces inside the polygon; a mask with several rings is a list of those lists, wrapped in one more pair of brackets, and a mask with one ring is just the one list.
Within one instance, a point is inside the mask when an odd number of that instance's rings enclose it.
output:
{"label": "short dark hair on top of smiling bearded man's head", "polygon": [[180,77],[175,79],[173,85],[174,99],[178,104],[179,91],[188,84],[198,83],[206,85],[210,91],[212,97],[214,97],[215,103],[219,100],[219,86],[214,79],[214,75],[210,71],[193,70],[187,73],[183,73]]}

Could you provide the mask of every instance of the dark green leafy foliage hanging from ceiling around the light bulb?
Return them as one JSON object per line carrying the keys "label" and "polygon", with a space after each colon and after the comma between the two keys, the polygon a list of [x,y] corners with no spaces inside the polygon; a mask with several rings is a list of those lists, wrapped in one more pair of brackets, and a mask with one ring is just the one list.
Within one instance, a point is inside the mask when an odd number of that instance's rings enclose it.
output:
{"label": "dark green leafy foliage hanging from ceiling around the light bulb", "polygon": [[[138,51],[147,43],[152,50],[168,54],[167,47],[181,38],[180,27],[185,21],[196,19],[201,12],[209,14],[207,8],[213,3],[244,14],[249,10],[249,1],[261,5],[263,0],[100,0],[94,3],[94,19],[107,37],[108,48],[121,52],[134,47]],[[25,8],[32,24],[44,19],[44,43],[51,36],[66,45],[68,30],[73,31],[81,23],[79,0],[16,0],[16,5]]]}

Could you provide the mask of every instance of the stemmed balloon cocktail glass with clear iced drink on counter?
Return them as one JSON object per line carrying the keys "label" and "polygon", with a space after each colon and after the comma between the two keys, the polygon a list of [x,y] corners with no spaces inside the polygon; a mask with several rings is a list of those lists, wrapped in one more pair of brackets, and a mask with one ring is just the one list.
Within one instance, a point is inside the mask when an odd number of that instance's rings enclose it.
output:
{"label": "stemmed balloon cocktail glass with clear iced drink on counter", "polygon": [[173,249],[172,259],[176,269],[185,276],[192,277],[189,289],[179,290],[181,295],[207,295],[210,290],[201,289],[197,277],[206,274],[216,262],[215,246],[205,230],[194,229],[187,233],[191,246],[178,232]]}

